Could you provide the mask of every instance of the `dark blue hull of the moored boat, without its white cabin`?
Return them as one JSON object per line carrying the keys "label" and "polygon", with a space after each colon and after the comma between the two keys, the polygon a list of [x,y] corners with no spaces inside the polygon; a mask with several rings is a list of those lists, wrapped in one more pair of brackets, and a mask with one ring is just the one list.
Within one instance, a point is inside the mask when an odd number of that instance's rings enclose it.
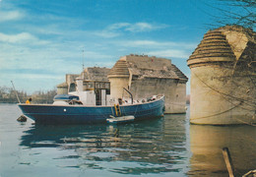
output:
{"label": "dark blue hull of the moored boat, without its white cabin", "polygon": [[[24,115],[40,124],[105,123],[110,115],[116,116],[113,106],[19,104]],[[164,97],[132,105],[120,105],[122,115],[134,115],[135,120],[163,115]]]}

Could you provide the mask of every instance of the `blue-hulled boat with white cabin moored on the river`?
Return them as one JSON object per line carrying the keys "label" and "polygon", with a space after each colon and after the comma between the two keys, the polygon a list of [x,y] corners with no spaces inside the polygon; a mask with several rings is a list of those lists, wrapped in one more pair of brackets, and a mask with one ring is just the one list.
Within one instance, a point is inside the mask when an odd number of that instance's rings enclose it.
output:
{"label": "blue-hulled boat with white cabin moored on the river", "polygon": [[[157,118],[163,115],[164,95],[134,100],[110,99],[104,82],[100,91],[98,82],[77,80],[76,91],[57,94],[53,104],[18,104],[23,114],[36,124],[95,124],[106,123],[109,116],[134,116],[134,120]],[[81,86],[82,85],[82,86]],[[107,86],[105,89],[103,86]],[[87,88],[89,87],[89,88]],[[127,89],[126,89],[127,90]],[[99,98],[99,99],[98,99]],[[127,118],[127,117],[125,117]]]}

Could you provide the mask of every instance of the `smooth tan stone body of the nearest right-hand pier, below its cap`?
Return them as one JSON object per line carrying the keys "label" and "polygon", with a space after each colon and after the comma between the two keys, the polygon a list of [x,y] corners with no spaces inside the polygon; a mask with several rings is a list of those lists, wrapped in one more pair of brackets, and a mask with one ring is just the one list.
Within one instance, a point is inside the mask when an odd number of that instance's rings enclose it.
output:
{"label": "smooth tan stone body of the nearest right-hand pier, below its cap", "polygon": [[233,76],[226,66],[191,68],[190,122],[215,125],[255,122],[253,106],[243,101],[254,96],[252,92],[244,94],[250,83]]}

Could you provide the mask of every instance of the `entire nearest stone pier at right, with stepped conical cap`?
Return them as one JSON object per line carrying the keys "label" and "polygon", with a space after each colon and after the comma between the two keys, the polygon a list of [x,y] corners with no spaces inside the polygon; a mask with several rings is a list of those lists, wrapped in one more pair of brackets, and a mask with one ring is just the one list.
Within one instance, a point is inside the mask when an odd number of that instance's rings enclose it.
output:
{"label": "entire nearest stone pier at right, with stepped conical cap", "polygon": [[252,29],[209,30],[187,64],[191,123],[256,123],[256,34]]}

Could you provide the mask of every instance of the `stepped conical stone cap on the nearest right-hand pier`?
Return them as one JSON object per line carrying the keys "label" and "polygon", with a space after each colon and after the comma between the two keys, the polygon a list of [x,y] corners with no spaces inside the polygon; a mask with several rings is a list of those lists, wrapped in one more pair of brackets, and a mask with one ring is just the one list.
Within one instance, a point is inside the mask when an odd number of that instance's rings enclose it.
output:
{"label": "stepped conical stone cap on the nearest right-hand pier", "polygon": [[204,35],[203,40],[187,62],[190,66],[192,64],[216,61],[235,61],[233,51],[225,35],[219,29],[210,30]]}

